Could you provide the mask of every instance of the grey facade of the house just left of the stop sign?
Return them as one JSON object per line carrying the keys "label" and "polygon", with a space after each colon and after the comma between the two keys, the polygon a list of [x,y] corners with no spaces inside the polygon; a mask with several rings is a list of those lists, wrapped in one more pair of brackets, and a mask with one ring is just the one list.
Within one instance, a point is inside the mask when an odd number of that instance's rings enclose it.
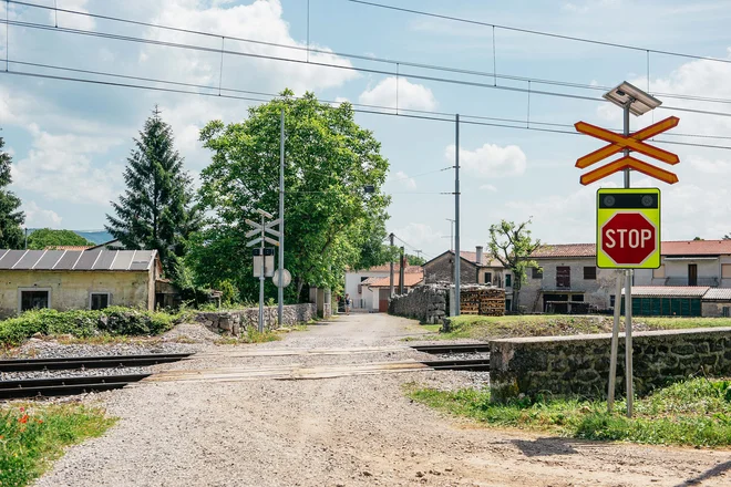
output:
{"label": "grey facade of the house just left of the stop sign", "polygon": [[[584,302],[598,309],[609,308],[609,297],[615,293],[617,272],[611,269],[597,269],[596,279],[584,279],[585,267],[596,267],[594,257],[574,257],[563,259],[535,259],[543,268],[543,278],[534,279],[533,270],[528,269],[526,282],[521,289],[521,307],[527,312],[542,312],[543,298],[539,293],[548,294],[584,294]],[[556,287],[556,268],[567,266],[570,268],[570,288]]]}

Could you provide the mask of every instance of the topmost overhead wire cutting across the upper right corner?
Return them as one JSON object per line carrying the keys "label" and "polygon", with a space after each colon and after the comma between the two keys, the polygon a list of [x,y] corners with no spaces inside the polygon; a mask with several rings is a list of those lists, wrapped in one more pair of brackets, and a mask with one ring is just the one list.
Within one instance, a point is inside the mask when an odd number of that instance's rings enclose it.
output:
{"label": "topmost overhead wire cutting across the upper right corner", "polygon": [[442,19],[442,20],[451,20],[451,21],[454,21],[454,22],[471,23],[473,25],[491,27],[493,29],[503,29],[503,30],[506,30],[506,31],[522,32],[522,33],[534,34],[534,35],[543,35],[543,37],[554,38],[554,39],[563,39],[565,41],[585,42],[585,43],[588,43],[588,44],[605,45],[605,46],[608,46],[608,48],[628,49],[628,50],[631,50],[631,51],[651,52],[651,53],[655,53],[655,54],[672,55],[672,56],[677,56],[677,58],[688,58],[688,59],[696,59],[696,60],[702,60],[702,61],[731,63],[731,60],[728,60],[728,59],[712,58],[712,56],[704,56],[704,55],[696,55],[696,54],[687,54],[687,53],[682,53],[682,52],[663,51],[663,50],[658,50],[658,49],[640,48],[640,46],[637,46],[637,45],[620,44],[620,43],[617,43],[617,42],[599,41],[599,40],[596,40],[596,39],[578,38],[578,37],[575,37],[575,35],[557,34],[557,33],[553,33],[553,32],[544,32],[544,31],[537,31],[537,30],[532,30],[532,29],[523,29],[523,28],[517,28],[517,27],[501,25],[501,24],[497,24],[497,23],[488,23],[488,22],[483,22],[483,21],[478,21],[478,20],[464,19],[464,18],[461,18],[461,17],[443,15],[443,14],[440,14],[440,13],[425,12],[423,10],[405,9],[405,8],[402,8],[402,7],[394,7],[394,6],[389,6],[389,4],[384,4],[384,3],[375,3],[375,2],[364,1],[364,0],[346,0],[346,1],[349,1],[351,3],[361,3],[361,4],[364,4],[364,6],[369,6],[369,7],[377,7],[379,9],[394,10],[394,11],[404,12],[404,13],[413,13],[413,14],[416,14],[416,15],[432,17],[432,18]]}

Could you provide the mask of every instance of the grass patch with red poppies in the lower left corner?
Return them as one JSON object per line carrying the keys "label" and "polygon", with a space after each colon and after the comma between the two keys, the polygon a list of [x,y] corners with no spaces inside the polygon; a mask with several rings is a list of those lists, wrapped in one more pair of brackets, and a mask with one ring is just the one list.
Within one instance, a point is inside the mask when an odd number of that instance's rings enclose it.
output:
{"label": "grass patch with red poppies in the lower left corner", "polygon": [[115,422],[103,410],[80,404],[0,407],[0,485],[30,484],[64,447],[101,436]]}

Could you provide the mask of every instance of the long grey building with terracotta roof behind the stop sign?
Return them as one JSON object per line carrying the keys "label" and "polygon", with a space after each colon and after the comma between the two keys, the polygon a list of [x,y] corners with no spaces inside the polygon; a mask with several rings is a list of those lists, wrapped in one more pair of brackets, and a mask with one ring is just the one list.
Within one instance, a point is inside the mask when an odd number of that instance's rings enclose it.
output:
{"label": "long grey building with terracotta roof behind the stop sign", "polygon": [[[706,296],[714,288],[731,288],[731,240],[667,241],[661,251],[659,269],[635,271],[636,314],[722,313],[727,293],[719,290]],[[594,244],[543,246],[531,257],[540,268],[528,270],[521,289],[521,307],[526,312],[614,308],[617,271],[597,269]],[[708,304],[701,305],[701,301]]]}

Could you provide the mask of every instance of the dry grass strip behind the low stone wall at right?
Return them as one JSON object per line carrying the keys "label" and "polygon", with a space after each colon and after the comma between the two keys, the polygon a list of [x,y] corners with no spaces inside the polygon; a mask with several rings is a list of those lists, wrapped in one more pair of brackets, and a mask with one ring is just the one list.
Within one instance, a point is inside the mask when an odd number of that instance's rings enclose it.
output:
{"label": "dry grass strip behind the low stone wall at right", "polygon": [[[622,318],[624,330],[624,318]],[[451,320],[451,331],[439,339],[490,340],[513,336],[553,336],[609,333],[612,318],[606,315],[460,315]],[[635,331],[680,330],[690,328],[731,327],[729,318],[650,318],[637,317]]]}

